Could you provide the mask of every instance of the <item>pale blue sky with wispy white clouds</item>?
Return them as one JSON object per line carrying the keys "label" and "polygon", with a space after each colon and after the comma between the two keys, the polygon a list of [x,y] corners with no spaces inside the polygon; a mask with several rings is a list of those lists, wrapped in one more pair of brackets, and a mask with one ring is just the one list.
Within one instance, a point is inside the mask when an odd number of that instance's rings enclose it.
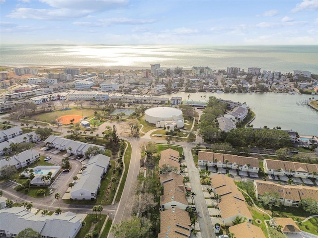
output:
{"label": "pale blue sky with wispy white clouds", "polygon": [[0,0],[0,44],[317,45],[318,0]]}

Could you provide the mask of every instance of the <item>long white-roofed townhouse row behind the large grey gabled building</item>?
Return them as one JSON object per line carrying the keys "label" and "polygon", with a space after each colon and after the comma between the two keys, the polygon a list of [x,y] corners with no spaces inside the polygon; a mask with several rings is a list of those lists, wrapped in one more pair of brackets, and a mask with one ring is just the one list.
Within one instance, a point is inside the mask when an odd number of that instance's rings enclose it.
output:
{"label": "long white-roofed townhouse row behind the large grey gabled building", "polygon": [[59,150],[66,150],[69,154],[85,155],[88,148],[97,146],[101,150],[105,150],[106,147],[94,144],[88,144],[80,141],[70,140],[57,135],[50,135],[44,143],[49,142],[49,146],[57,148]]}

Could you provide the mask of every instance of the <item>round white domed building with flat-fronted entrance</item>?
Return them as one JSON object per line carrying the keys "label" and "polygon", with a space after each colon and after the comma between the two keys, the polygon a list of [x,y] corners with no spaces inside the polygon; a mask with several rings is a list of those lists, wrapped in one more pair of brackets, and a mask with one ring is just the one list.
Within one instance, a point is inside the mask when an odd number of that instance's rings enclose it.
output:
{"label": "round white domed building with flat-fronted entrance", "polygon": [[167,127],[174,130],[175,127],[184,126],[182,111],[176,108],[156,107],[145,111],[145,120],[156,124],[156,127]]}

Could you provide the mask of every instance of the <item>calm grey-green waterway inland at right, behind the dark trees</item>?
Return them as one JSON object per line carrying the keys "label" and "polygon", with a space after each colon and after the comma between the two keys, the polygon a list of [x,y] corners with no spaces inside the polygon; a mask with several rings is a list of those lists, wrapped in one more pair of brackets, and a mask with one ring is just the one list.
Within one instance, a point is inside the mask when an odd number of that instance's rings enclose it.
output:
{"label": "calm grey-green waterway inland at right, behind the dark trees", "polygon": [[[162,97],[179,96],[187,100],[190,94],[192,100],[206,100],[210,96],[246,103],[256,114],[252,121],[253,127],[269,128],[280,126],[284,130],[295,130],[302,135],[318,135],[318,111],[300,102],[315,97],[312,95],[299,95],[287,93],[174,93]],[[201,98],[202,96],[202,98]],[[316,95],[315,100],[318,99]]]}

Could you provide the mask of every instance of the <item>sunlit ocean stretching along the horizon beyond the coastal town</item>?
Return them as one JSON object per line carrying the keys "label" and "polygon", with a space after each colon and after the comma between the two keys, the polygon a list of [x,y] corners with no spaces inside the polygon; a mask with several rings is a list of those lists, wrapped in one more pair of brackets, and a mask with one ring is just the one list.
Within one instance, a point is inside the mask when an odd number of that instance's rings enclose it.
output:
{"label": "sunlit ocean stretching along the horizon beyond the coastal town", "polygon": [[1,66],[209,66],[308,70],[318,74],[318,46],[1,45]]}

